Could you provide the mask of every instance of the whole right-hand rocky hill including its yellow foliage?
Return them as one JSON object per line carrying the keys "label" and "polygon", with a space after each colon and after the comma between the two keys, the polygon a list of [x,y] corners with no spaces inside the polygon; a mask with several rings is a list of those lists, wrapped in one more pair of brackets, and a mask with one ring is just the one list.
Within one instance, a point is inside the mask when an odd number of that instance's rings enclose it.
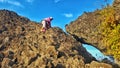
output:
{"label": "whole right-hand rocky hill including its yellow foliage", "polygon": [[78,41],[114,56],[115,62],[120,64],[120,0],[114,0],[112,6],[84,12],[66,25],[66,31]]}

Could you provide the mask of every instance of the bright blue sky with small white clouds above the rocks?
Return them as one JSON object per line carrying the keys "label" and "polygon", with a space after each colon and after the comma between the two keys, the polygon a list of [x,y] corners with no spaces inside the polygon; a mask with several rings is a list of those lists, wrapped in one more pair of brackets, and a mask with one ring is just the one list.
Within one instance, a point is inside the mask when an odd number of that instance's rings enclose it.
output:
{"label": "bright blue sky with small white clouds above the rocks", "polygon": [[[112,1],[108,0],[108,3]],[[77,19],[84,11],[94,11],[103,4],[104,0],[0,0],[0,9],[15,11],[36,22],[52,16],[52,26],[64,29],[65,24]]]}

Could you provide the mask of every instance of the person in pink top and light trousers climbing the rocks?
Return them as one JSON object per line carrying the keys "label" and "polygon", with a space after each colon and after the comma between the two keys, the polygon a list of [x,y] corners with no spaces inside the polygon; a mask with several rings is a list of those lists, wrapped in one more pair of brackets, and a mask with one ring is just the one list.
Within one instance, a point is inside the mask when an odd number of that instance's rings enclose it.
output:
{"label": "person in pink top and light trousers climbing the rocks", "polygon": [[45,32],[47,29],[51,28],[51,21],[53,20],[53,17],[48,17],[42,20],[42,32]]}

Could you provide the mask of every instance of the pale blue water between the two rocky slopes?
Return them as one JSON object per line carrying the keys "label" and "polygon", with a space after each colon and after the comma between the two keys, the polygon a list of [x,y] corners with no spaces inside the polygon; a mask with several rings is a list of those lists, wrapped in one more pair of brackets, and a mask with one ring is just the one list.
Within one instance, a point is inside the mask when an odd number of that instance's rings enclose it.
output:
{"label": "pale blue water between the two rocky slopes", "polygon": [[96,58],[96,60],[98,61],[102,61],[103,59],[108,59],[111,62],[114,62],[114,58],[112,56],[105,56],[102,52],[100,52],[100,50],[98,50],[97,48],[93,47],[92,45],[88,45],[88,44],[82,44],[83,47],[86,48],[86,50],[93,56]]}

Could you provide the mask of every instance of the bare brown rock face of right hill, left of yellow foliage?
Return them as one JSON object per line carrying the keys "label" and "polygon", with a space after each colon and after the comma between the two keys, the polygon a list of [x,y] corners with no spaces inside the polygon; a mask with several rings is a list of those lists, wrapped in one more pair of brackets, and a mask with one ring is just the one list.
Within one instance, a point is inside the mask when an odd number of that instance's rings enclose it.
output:
{"label": "bare brown rock face of right hill, left of yellow foliage", "polygon": [[[105,47],[102,46],[102,36],[96,34],[98,25],[100,25],[101,20],[99,19],[99,11],[84,13],[74,22],[71,22],[66,26],[66,31],[73,37],[82,43],[92,44],[98,47],[100,50],[104,50]],[[74,29],[73,29],[74,27]]]}

